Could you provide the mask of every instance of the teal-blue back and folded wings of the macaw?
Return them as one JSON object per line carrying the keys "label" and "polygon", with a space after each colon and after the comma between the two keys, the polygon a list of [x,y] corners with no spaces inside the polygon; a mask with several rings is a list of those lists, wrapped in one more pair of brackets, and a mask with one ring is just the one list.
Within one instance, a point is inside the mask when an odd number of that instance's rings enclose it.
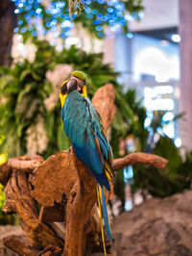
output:
{"label": "teal-blue back and folded wings of the macaw", "polygon": [[61,116],[64,131],[71,138],[77,157],[84,162],[97,182],[109,191],[112,153],[101,116],[89,99],[77,90],[67,95]]}

